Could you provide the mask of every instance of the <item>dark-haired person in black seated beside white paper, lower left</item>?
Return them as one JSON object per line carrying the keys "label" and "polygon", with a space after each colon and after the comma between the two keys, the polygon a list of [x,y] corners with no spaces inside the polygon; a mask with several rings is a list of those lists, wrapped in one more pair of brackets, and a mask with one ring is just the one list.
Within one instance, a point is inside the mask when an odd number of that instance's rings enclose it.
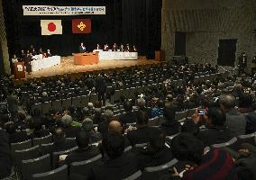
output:
{"label": "dark-haired person in black seated beside white paper, lower left", "polygon": [[65,159],[65,163],[70,165],[73,162],[80,162],[100,154],[96,146],[89,145],[89,137],[86,130],[79,130],[76,137],[78,149],[71,152]]}

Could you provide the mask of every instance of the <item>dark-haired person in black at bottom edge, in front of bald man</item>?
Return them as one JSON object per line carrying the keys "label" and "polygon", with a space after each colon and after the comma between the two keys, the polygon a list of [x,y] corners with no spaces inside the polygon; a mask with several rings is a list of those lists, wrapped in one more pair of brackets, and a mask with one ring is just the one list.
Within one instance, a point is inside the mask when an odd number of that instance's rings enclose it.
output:
{"label": "dark-haired person in black at bottom edge, in front of bald man", "polygon": [[93,166],[87,180],[120,180],[139,170],[136,156],[133,153],[123,153],[124,139],[121,134],[109,133],[102,144],[109,160],[102,165]]}

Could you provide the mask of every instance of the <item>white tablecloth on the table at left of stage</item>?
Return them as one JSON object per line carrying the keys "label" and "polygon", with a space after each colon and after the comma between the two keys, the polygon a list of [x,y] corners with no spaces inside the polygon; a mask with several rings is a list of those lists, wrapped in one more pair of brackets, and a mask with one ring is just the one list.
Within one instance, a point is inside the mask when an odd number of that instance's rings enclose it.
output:
{"label": "white tablecloth on the table at left of stage", "polygon": [[42,58],[41,55],[35,55],[32,58],[32,72],[60,64],[60,56]]}

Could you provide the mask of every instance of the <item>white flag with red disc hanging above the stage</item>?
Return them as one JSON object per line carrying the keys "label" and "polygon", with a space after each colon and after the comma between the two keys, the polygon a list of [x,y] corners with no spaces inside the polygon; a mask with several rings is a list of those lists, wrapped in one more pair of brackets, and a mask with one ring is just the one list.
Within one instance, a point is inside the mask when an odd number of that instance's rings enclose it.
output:
{"label": "white flag with red disc hanging above the stage", "polygon": [[41,35],[62,34],[61,20],[41,20]]}

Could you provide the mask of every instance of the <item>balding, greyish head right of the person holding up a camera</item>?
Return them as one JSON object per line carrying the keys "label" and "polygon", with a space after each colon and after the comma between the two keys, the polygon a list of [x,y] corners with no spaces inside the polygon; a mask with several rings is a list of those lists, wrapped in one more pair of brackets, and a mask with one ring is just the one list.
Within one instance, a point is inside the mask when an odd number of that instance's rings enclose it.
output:
{"label": "balding, greyish head right of the person holding up a camera", "polygon": [[229,112],[235,107],[235,98],[232,94],[224,94],[219,99],[220,108],[224,112]]}

